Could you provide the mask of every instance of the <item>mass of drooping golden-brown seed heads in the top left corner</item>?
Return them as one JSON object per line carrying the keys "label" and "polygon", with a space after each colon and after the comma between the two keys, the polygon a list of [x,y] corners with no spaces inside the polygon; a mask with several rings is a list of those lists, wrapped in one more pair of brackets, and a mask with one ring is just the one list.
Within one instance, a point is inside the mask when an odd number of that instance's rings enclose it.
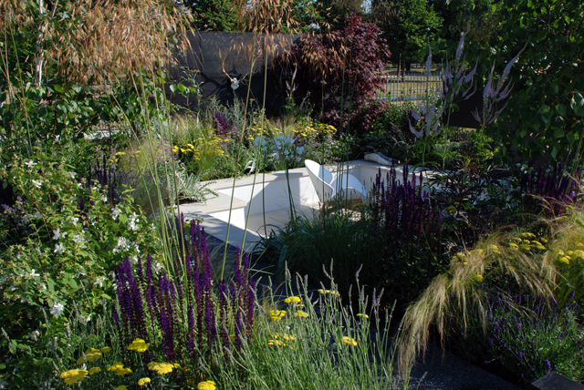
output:
{"label": "mass of drooping golden-brown seed heads in the top left corner", "polygon": [[156,70],[172,61],[175,40],[183,48],[189,15],[171,1],[77,0],[38,9],[0,0],[0,31],[40,31],[48,67],[57,77],[88,84],[113,81],[139,69]]}

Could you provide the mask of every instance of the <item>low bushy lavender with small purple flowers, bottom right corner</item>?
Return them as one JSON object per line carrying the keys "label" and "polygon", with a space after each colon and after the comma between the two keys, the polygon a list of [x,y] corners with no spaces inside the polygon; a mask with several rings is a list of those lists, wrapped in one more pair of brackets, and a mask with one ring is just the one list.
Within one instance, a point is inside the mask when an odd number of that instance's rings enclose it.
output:
{"label": "low bushy lavender with small purple flowers, bottom right corner", "polygon": [[492,357],[485,364],[497,360],[527,383],[550,372],[581,381],[584,326],[579,315],[578,303],[561,307],[553,296],[517,295],[510,303],[495,298],[487,310]]}

